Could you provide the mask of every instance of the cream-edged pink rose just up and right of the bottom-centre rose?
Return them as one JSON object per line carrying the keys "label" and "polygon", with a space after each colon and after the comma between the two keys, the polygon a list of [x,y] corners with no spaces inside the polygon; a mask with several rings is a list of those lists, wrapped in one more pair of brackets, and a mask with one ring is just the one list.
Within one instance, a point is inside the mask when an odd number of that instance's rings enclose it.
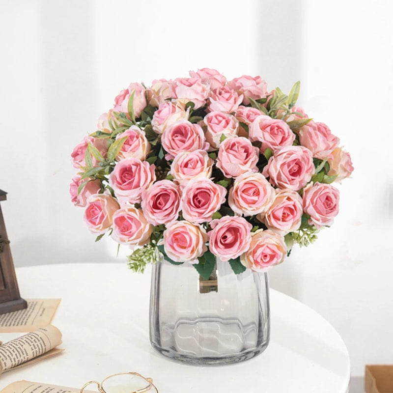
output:
{"label": "cream-edged pink rose just up and right of the bottom-centre rose", "polygon": [[247,172],[236,177],[229,190],[228,203],[235,214],[263,214],[275,197],[275,189],[261,173]]}

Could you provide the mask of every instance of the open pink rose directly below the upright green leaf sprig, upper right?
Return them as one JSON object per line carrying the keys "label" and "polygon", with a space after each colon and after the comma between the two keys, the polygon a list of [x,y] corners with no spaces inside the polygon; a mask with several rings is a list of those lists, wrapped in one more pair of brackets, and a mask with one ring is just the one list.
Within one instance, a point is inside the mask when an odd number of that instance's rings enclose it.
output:
{"label": "open pink rose directly below the upright green leaf sprig, upper right", "polygon": [[250,140],[262,142],[260,151],[262,153],[269,147],[276,150],[282,146],[291,146],[296,135],[285,121],[272,119],[270,116],[261,114],[250,126]]}

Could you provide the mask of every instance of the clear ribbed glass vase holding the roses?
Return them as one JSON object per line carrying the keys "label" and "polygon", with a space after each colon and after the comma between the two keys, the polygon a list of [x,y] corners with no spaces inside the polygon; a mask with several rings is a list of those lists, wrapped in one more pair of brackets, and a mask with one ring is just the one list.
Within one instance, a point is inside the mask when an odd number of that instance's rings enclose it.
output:
{"label": "clear ribbed glass vase holding the roses", "polygon": [[150,342],[169,358],[189,364],[230,364],[251,359],[269,343],[266,273],[235,275],[216,261],[209,280],[187,263],[153,266]]}

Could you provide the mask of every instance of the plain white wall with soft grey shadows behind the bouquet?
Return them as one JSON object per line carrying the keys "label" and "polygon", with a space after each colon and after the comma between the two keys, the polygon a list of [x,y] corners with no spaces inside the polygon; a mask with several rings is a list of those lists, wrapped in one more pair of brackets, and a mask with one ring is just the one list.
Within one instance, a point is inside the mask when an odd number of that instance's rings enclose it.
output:
{"label": "plain white wall with soft grey shadows behind the bouquet", "polygon": [[1,206],[15,265],[115,260],[69,200],[70,153],[130,82],[201,67],[284,91],[301,79],[300,104],[355,172],[333,227],[294,249],[271,286],[335,326],[354,376],[393,363],[392,12],[389,0],[0,0]]}

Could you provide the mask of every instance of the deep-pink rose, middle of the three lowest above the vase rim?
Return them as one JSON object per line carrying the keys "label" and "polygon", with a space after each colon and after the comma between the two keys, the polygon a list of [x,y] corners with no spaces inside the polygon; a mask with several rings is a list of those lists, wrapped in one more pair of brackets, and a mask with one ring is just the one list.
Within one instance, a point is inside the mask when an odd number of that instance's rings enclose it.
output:
{"label": "deep-pink rose, middle of the three lowest above the vase rim", "polygon": [[253,225],[243,217],[225,216],[210,223],[209,249],[223,261],[235,259],[250,247]]}

